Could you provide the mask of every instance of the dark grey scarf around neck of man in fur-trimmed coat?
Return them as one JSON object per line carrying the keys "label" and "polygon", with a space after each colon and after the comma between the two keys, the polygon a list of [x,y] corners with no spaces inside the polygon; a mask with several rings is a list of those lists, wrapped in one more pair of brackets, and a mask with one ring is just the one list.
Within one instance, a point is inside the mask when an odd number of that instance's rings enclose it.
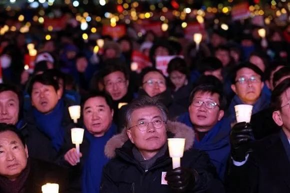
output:
{"label": "dark grey scarf around neck of man in fur-trimmed coat", "polygon": [[155,161],[164,155],[165,151],[167,150],[167,143],[163,145],[160,150],[150,159],[144,159],[143,156],[141,155],[140,151],[134,146],[132,148],[132,153],[134,158],[141,164],[141,166],[146,170],[148,170],[154,163]]}

